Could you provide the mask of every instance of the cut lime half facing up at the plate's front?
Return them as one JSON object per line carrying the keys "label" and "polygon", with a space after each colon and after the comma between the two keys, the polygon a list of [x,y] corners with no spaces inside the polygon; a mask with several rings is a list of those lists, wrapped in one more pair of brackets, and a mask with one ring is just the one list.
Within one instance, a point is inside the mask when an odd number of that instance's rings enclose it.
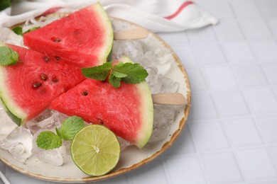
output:
{"label": "cut lime half facing up at the plate's front", "polygon": [[87,175],[103,176],[118,163],[120,144],[116,135],[107,127],[88,125],[72,140],[71,156]]}

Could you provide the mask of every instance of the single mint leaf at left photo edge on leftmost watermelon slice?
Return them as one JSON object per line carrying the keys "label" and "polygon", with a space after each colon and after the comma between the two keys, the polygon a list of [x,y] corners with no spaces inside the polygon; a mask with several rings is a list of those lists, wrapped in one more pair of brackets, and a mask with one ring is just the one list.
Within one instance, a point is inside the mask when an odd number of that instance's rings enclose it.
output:
{"label": "single mint leaf at left photo edge on leftmost watermelon slice", "polygon": [[8,66],[18,62],[19,55],[17,52],[11,50],[10,47],[0,47],[0,65]]}

